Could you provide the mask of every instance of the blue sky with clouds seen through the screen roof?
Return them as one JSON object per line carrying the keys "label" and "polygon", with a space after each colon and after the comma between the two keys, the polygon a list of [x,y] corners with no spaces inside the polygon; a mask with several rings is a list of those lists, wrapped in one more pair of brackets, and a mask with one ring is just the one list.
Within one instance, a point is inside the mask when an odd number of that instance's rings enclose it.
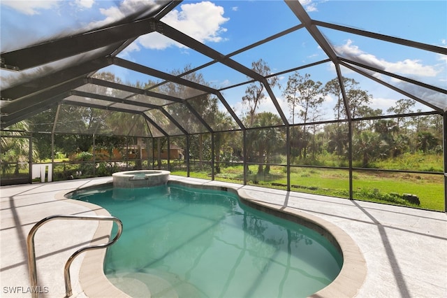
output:
{"label": "blue sky with clouds seen through the screen roof", "polygon": [[[447,46],[447,1],[444,0],[301,0],[300,2],[314,20],[333,22],[444,48]],[[52,36],[69,35],[79,30],[101,27],[135,10],[153,6],[152,0],[0,0],[1,52],[22,48]],[[189,34],[223,55],[300,24],[286,3],[280,0],[183,1],[161,21]],[[447,55],[376,41],[333,29],[323,27],[320,29],[337,55],[341,57],[367,62],[379,69],[447,89]],[[196,67],[210,62],[208,57],[156,32],[140,36],[121,52],[119,57],[168,73],[184,69],[187,65]],[[268,63],[271,73],[278,73],[326,59],[327,56],[309,33],[305,29],[300,29],[232,57],[236,62],[249,68],[251,62],[260,58]],[[111,66],[105,70],[115,72],[124,82],[129,83],[155,79],[136,75],[118,66]],[[342,68],[342,72],[344,76],[357,80],[360,88],[372,94],[373,101],[370,104],[372,108],[381,108],[385,112],[397,99],[404,98],[404,95],[359,76],[349,69]],[[209,66],[200,73],[217,89],[248,80],[242,74],[221,64]],[[305,73],[311,74],[312,80],[321,81],[323,84],[336,76],[331,63],[300,71],[302,75]],[[279,86],[274,87],[275,97],[284,109],[286,117],[289,117],[289,109],[282,93],[289,74],[279,76],[279,85],[283,89]],[[9,75],[7,71],[1,71],[2,78]],[[400,84],[393,78],[384,76],[380,78],[393,85]],[[235,108],[237,115],[244,112],[241,103],[244,90],[245,87],[242,86],[222,91],[230,106]],[[447,106],[445,95],[434,98],[434,102]],[[326,98],[324,115],[333,115],[331,110],[335,104],[334,100],[330,96]],[[418,108],[427,109],[423,106]],[[272,101],[266,99],[258,111],[275,110]],[[427,111],[430,111],[430,108]]]}

